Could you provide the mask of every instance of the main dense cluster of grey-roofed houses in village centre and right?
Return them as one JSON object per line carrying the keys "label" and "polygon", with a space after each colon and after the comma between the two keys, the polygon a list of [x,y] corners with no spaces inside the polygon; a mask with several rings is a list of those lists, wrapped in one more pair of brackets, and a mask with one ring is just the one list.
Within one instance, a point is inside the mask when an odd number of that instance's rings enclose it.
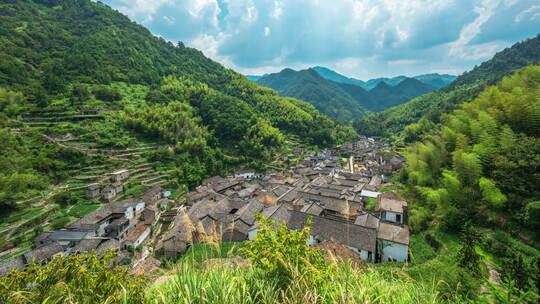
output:
{"label": "main dense cluster of grey-roofed houses in village centre and right", "polygon": [[[362,159],[352,162],[362,170],[344,168],[340,148],[311,153],[285,174],[242,170],[209,178],[188,194],[157,249],[172,258],[196,243],[253,240],[260,213],[295,230],[312,218],[312,245],[337,241],[365,261],[406,261],[407,202],[393,191],[379,192],[388,177],[382,167],[392,156],[377,144],[365,139],[353,147],[365,146],[355,153]],[[370,199],[373,210],[366,208]]]}

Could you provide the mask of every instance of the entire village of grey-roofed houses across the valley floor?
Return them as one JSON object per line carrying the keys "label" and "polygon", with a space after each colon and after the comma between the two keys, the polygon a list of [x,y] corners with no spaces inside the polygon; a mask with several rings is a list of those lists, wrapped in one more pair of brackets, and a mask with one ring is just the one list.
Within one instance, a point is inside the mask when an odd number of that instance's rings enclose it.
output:
{"label": "entire village of grey-roofed houses across the valley floor", "polygon": [[312,218],[310,245],[337,242],[372,263],[407,261],[407,202],[391,189],[392,173],[405,159],[379,138],[360,137],[318,152],[294,147],[304,157],[285,172],[237,170],[204,180],[182,199],[152,186],[140,197],[116,201],[129,170],[86,189],[106,204],[67,227],[41,233],[35,248],[0,264],[0,276],[55,255],[118,250],[133,271],[177,258],[193,244],[243,242],[257,234],[256,215],[302,229]]}

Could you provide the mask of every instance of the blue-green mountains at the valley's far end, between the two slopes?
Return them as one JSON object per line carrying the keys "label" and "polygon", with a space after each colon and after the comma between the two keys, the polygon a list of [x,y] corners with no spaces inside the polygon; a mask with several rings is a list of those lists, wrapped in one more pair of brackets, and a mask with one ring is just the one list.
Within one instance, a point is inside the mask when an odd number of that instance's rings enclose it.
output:
{"label": "blue-green mountains at the valley's far end, between the two slopes", "polygon": [[[333,72],[327,69],[325,71]],[[337,74],[333,73],[332,75]],[[335,78],[346,81],[339,76]],[[368,91],[353,83],[326,79],[315,69],[284,69],[279,73],[263,76],[257,83],[277,90],[282,96],[306,100],[322,113],[343,122],[366,115],[366,110],[382,111],[436,89],[416,79],[405,78],[395,86],[380,81],[375,88]]]}

